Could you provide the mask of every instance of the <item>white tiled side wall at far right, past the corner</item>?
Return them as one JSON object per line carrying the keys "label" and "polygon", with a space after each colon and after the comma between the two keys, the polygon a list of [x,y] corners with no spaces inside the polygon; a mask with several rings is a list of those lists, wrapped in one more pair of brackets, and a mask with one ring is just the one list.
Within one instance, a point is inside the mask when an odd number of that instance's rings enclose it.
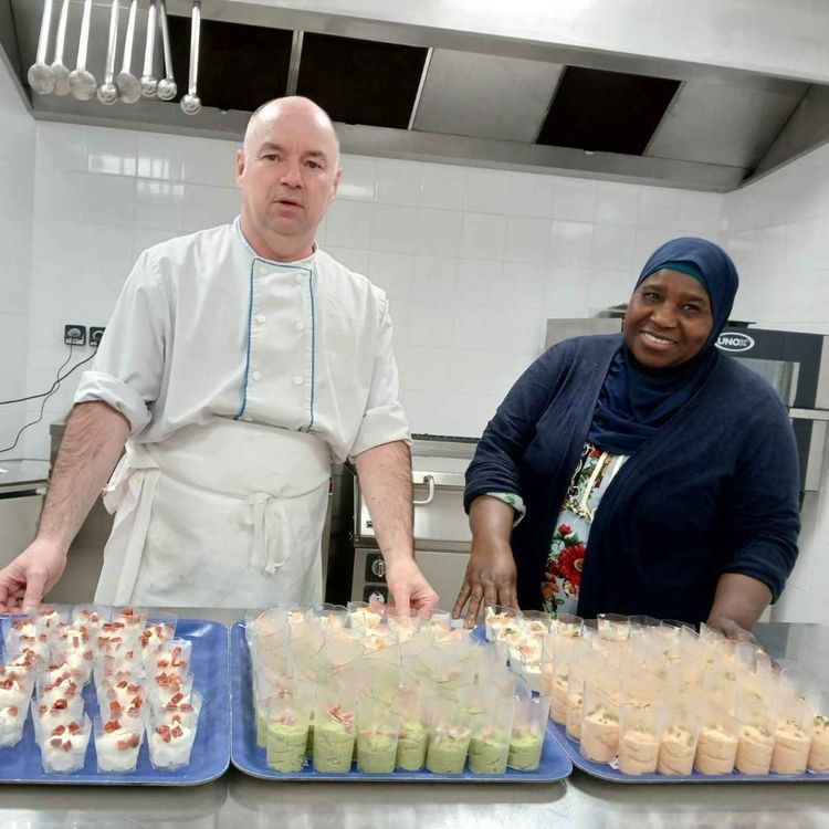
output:
{"label": "white tiled side wall at far right, past the corner", "polygon": [[[735,316],[829,334],[829,144],[730,193],[723,243],[741,274]],[[829,453],[801,510],[800,556],[773,618],[829,625]]]}

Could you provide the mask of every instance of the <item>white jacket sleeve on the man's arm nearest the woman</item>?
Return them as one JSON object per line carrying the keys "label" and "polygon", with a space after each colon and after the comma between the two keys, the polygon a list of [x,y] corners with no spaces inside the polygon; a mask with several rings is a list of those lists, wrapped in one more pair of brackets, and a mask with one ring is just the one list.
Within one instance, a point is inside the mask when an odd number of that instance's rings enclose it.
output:
{"label": "white jacket sleeve on the man's arm nearest the woman", "polygon": [[367,449],[402,440],[411,444],[409,422],[400,405],[400,382],[392,351],[392,326],[388,301],[384,297],[375,355],[371,386],[366,410],[349,455],[354,458]]}

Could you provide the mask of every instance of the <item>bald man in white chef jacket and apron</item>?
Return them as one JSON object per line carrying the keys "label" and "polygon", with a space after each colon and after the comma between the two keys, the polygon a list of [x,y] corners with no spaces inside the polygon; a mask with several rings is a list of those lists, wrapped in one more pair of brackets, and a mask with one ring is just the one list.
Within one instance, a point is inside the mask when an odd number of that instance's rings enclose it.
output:
{"label": "bald man in white chef jacket and apron", "polygon": [[0,611],[57,581],[102,487],[115,521],[97,602],[321,602],[330,463],[347,458],[395,602],[434,608],[413,556],[386,295],[314,242],[342,172],[330,119],[306,98],[269,102],[235,169],[232,224],[133,267],[75,393],[38,537],[0,571]]}

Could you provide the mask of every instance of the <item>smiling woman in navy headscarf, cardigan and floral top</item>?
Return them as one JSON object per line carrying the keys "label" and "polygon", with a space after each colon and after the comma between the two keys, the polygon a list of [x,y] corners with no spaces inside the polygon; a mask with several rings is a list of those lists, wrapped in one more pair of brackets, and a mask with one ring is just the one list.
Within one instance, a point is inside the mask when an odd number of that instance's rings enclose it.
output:
{"label": "smiling woman in navy headscarf, cardigan and floral top", "polygon": [[455,604],[707,621],[746,636],[797,556],[790,422],[715,346],[737,273],[703,239],[648,260],[623,335],[542,355],[466,473],[472,556]]}

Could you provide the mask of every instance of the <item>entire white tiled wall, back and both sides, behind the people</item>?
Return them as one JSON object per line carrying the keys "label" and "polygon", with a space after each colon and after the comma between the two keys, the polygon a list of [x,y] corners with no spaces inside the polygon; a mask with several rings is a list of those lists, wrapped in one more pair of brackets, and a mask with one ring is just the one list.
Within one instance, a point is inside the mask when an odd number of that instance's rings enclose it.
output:
{"label": "entire white tiled wall, back and both sides, behind the people", "polygon": [[[140,250],[229,221],[239,201],[232,143],[50,123],[35,143],[6,81],[0,324],[15,345],[3,399],[49,388],[67,356],[63,325],[105,324]],[[625,301],[648,254],[678,234],[732,251],[735,316],[829,333],[829,148],[726,197],[354,156],[343,166],[319,242],[389,293],[414,431],[480,434],[539,353],[545,321]],[[46,455],[46,424],[74,385],[49,401],[27,454]],[[3,437],[39,409],[23,408],[0,411]],[[829,622],[829,502],[807,501],[804,524],[777,615]]]}

